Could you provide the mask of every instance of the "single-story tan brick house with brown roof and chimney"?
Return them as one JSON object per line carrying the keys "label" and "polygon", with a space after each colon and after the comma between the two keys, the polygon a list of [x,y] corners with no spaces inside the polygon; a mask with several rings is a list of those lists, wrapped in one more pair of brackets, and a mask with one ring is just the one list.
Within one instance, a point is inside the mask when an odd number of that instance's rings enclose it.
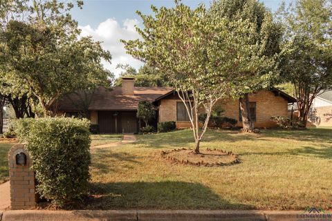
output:
{"label": "single-story tan brick house with brown roof and chimney", "polygon": [[[156,122],[174,121],[178,128],[190,128],[190,120],[185,106],[172,88],[161,87],[134,87],[134,79],[122,78],[122,86],[113,87],[113,90],[98,88],[91,95],[89,113],[92,124],[99,124],[100,133],[133,133],[142,126],[136,117],[138,102],[148,100],[157,106]],[[70,97],[70,99],[68,99]],[[59,115],[77,115],[80,108],[73,105],[76,95],[68,95],[59,102]],[[288,103],[296,99],[286,93],[273,88],[261,90],[251,94],[250,112],[257,127],[274,127],[276,124],[270,120],[271,116],[287,116]],[[239,121],[239,100],[228,99],[219,102],[225,111],[225,117],[232,117]],[[155,122],[155,125],[156,125]]]}

